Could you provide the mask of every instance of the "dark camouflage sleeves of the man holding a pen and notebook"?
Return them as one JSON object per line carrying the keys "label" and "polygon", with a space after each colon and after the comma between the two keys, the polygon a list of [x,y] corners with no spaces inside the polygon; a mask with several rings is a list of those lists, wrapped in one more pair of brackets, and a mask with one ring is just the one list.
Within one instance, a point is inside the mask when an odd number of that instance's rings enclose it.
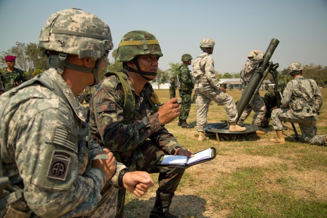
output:
{"label": "dark camouflage sleeves of the man holding a pen and notebook", "polygon": [[180,146],[176,138],[164,126],[160,126],[158,113],[124,124],[124,91],[118,77],[108,77],[99,84],[90,108],[94,112],[90,119],[95,119],[90,120],[92,134],[100,137],[105,147],[113,152],[128,157],[147,138],[155,140],[168,154]]}

